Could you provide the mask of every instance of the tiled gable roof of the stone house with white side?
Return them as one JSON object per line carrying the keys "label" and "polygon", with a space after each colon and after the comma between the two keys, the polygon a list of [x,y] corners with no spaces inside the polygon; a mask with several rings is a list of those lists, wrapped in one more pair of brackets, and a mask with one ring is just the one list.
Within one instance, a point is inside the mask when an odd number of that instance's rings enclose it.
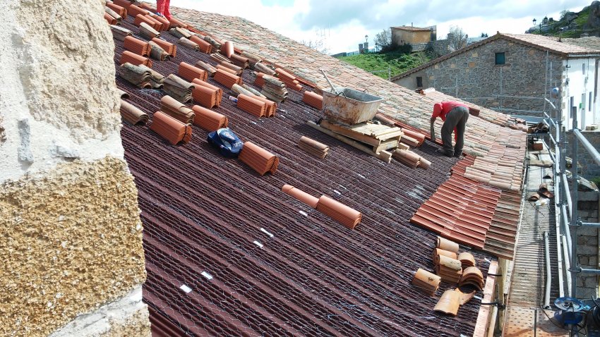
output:
{"label": "tiled gable roof of the stone house with white side", "polygon": [[472,49],[481,47],[484,44],[494,42],[498,39],[507,39],[512,42],[517,42],[520,44],[527,44],[530,47],[534,47],[534,48],[541,49],[544,51],[549,51],[554,54],[560,54],[561,56],[565,56],[565,57],[568,57],[568,56],[577,57],[577,56],[582,56],[582,55],[587,55],[587,54],[591,54],[594,56],[600,56],[600,48],[598,48],[598,47],[595,47],[595,46],[584,47],[583,43],[575,44],[573,42],[567,43],[566,41],[560,42],[560,41],[558,41],[558,37],[547,37],[544,35],[536,35],[536,34],[507,34],[507,33],[498,32],[496,35],[488,37],[487,39],[481,40],[479,42],[475,42],[473,44],[469,44],[467,47],[458,49],[457,51],[452,51],[452,53],[450,53],[450,54],[440,56],[437,59],[434,59],[433,61],[429,61],[427,63],[422,64],[421,66],[412,68],[409,71],[406,71],[399,75],[395,75],[390,80],[392,82],[395,80],[400,80],[400,78],[407,77],[408,75],[411,75],[413,73],[421,71],[425,68],[429,68],[437,63],[440,63],[441,61],[452,59],[452,57],[454,57],[454,56],[457,56],[457,55],[460,55],[467,51],[470,51]]}

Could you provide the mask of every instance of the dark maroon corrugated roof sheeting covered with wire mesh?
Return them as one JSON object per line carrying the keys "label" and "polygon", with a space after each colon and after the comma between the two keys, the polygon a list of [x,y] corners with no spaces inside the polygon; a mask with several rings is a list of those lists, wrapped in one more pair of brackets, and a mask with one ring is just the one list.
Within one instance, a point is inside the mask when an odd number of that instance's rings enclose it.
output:
{"label": "dark maroon corrugated roof sheeting covered with wire mesh", "polygon": [[[131,24],[123,26],[132,30]],[[168,32],[162,38],[176,42]],[[150,116],[160,90],[140,90],[119,77],[124,51],[115,39],[116,83],[128,102]],[[154,61],[162,75],[179,62],[215,61],[178,45],[171,61]],[[419,149],[427,171],[382,161],[306,125],[320,111],[289,90],[277,116],[258,119],[236,108],[224,89],[220,108],[242,140],[277,154],[274,175],[258,176],[224,159],[193,126],[190,143],[172,146],[147,126],[124,123],[126,160],[138,186],[148,279],[144,300],[156,336],[458,336],[472,335],[477,300],[457,317],[433,312],[435,298],[410,285],[420,267],[433,270],[436,235],[409,224],[414,211],[446,180],[455,159]],[[253,83],[251,71],[244,82]],[[258,88],[260,89],[260,88]],[[330,145],[316,159],[296,142],[306,135]],[[280,191],[294,185],[359,210],[354,231]],[[462,247],[465,250],[466,247]],[[473,252],[485,272],[491,257]]]}

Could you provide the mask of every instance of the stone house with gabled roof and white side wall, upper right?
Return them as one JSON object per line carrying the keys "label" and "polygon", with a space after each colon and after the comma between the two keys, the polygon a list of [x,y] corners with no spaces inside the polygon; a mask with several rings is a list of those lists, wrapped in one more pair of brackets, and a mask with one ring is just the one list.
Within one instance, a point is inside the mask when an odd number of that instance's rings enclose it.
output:
{"label": "stone house with gabled roof and white side wall, upper right", "polygon": [[[600,49],[561,42],[556,37],[498,33],[392,78],[409,89],[436,90],[507,114],[543,116],[544,98],[560,87],[557,106],[575,107],[580,128],[599,123],[597,99]],[[556,105],[556,104],[555,104]]]}

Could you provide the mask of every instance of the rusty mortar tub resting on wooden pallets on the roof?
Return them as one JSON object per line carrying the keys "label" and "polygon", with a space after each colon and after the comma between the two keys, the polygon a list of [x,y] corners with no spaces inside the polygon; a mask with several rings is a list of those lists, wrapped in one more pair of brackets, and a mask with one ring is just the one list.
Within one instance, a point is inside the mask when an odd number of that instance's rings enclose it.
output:
{"label": "rusty mortar tub resting on wooden pallets on the roof", "polygon": [[[337,93],[336,93],[337,92]],[[323,114],[330,121],[349,125],[371,121],[383,98],[350,89],[335,87],[323,90]]]}

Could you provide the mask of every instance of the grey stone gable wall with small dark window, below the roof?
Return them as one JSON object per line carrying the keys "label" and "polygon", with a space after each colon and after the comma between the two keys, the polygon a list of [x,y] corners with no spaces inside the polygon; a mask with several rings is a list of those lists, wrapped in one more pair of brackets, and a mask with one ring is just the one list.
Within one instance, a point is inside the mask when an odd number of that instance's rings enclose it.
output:
{"label": "grey stone gable wall with small dark window, below the roof", "polygon": [[[497,52],[505,52],[505,64],[496,65]],[[458,93],[457,97],[461,99],[507,114],[526,114],[514,110],[542,111],[544,92],[548,91],[547,88],[560,85],[563,73],[561,60],[556,54],[550,53],[548,65],[550,62],[552,67],[548,66],[551,69],[548,69],[546,86],[545,51],[496,39],[440,61],[426,68],[425,73],[429,85],[440,92],[450,95]],[[415,75],[409,76],[414,78]],[[494,95],[498,94],[537,98],[496,99]]]}

